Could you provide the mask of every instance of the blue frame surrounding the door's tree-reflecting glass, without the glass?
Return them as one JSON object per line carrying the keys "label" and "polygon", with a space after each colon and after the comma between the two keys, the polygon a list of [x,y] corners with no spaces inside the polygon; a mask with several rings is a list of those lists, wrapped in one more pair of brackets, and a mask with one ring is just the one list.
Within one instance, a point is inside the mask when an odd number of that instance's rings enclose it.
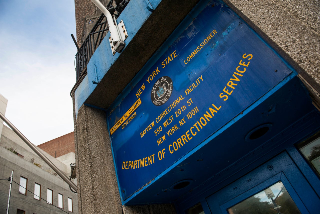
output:
{"label": "blue frame surrounding the door's tree-reflecting glass, without the glass", "polygon": [[[287,152],[206,197],[211,213],[227,214],[227,209],[281,181],[301,213],[316,213],[320,199]],[[205,206],[205,204],[204,204]]]}

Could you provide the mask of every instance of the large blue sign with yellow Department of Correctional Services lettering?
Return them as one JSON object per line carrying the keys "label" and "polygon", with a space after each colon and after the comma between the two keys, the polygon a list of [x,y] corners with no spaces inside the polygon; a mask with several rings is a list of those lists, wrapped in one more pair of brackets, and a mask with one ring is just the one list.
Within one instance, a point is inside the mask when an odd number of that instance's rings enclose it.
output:
{"label": "large blue sign with yellow Department of Correctional Services lettering", "polygon": [[108,110],[123,200],[290,73],[230,8],[210,2]]}

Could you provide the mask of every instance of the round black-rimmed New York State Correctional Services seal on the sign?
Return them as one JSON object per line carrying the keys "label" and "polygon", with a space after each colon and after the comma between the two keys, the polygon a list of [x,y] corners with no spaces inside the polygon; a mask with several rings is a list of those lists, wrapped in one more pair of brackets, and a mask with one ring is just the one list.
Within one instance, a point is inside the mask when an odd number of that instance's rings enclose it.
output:
{"label": "round black-rimmed New York State Correctional Services seal on the sign", "polygon": [[163,76],[156,81],[151,90],[151,101],[156,106],[164,104],[171,96],[172,80]]}

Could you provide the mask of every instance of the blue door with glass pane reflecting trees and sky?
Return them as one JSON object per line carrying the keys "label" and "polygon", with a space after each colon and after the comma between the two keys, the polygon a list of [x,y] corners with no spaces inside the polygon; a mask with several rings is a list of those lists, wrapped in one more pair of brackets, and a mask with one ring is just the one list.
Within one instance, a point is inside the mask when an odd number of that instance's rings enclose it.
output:
{"label": "blue door with glass pane reflecting trees and sky", "polygon": [[320,199],[286,152],[206,198],[211,213],[318,213]]}

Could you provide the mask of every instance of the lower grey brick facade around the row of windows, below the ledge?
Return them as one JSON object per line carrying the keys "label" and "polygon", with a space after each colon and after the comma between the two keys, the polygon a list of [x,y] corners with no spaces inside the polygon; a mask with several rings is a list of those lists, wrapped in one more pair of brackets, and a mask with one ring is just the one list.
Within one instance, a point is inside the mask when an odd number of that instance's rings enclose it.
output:
{"label": "lower grey brick facade around the row of windows, below the ledge", "polygon": [[[53,191],[53,205],[58,206],[58,193],[63,194],[64,211],[68,212],[68,197],[73,199],[74,213],[78,213],[77,194],[69,190],[68,184],[64,182],[59,176],[51,175],[43,169],[36,167],[29,161],[20,158],[13,152],[0,147],[0,174],[1,178],[9,178],[11,171],[13,172],[13,181],[20,183],[20,176],[28,179],[27,195],[19,193],[19,185],[12,184],[10,212],[17,213],[17,209],[25,210],[26,213],[61,213],[58,208],[47,204],[47,188]],[[41,185],[40,201],[34,199],[34,185],[35,183]],[[7,180],[0,181],[0,214],[6,213],[9,184]]]}

